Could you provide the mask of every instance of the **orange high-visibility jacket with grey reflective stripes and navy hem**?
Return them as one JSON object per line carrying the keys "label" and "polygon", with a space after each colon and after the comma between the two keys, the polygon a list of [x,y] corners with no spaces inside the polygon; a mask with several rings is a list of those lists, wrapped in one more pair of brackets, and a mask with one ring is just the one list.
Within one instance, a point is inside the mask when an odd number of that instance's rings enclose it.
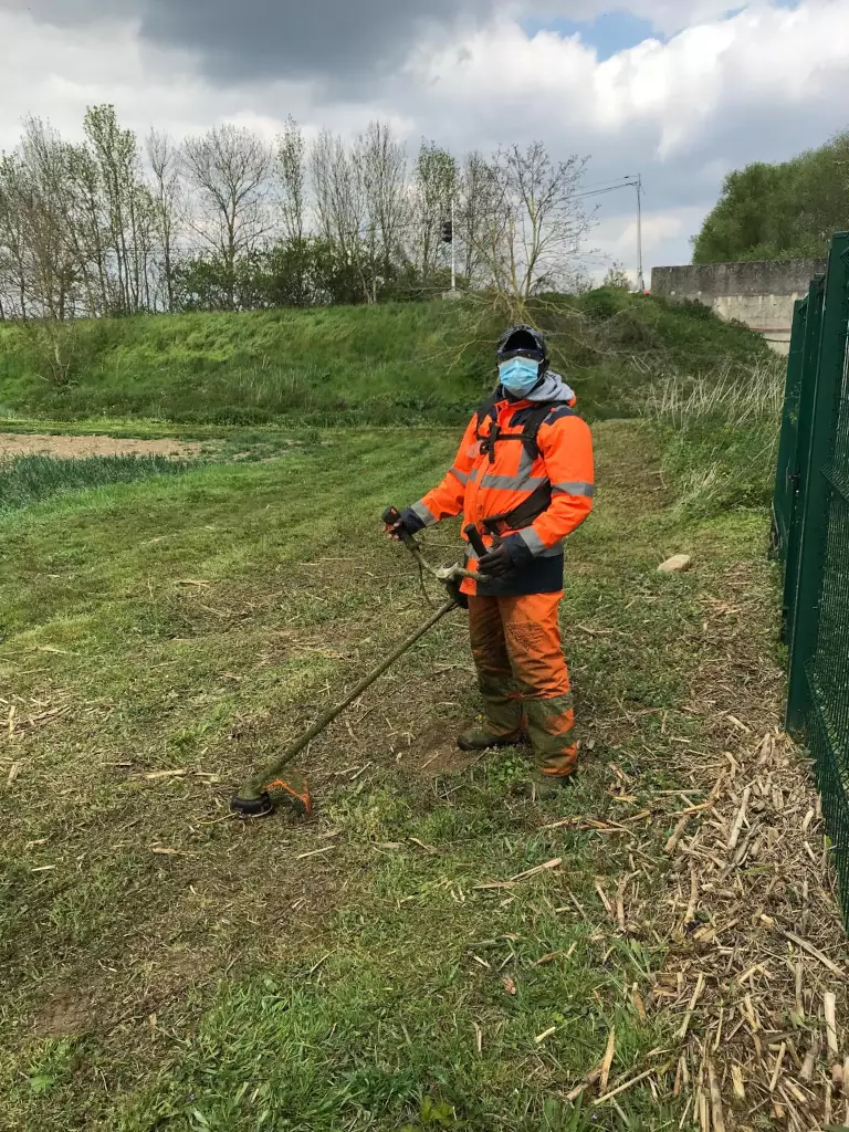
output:
{"label": "orange high-visibility jacket with grey reflective stripes and navy hem", "polygon": [[[537,434],[537,452],[522,443],[530,414],[549,405]],[[499,389],[495,398],[472,418],[451,471],[439,487],[412,511],[428,526],[464,513],[464,525],[474,523],[487,546],[492,535],[486,520],[508,515],[533,495],[550,486],[548,507],[520,530],[509,524],[498,532],[518,538],[533,560],[508,576],[477,586],[466,580],[469,594],[508,597],[556,593],[563,589],[563,540],[592,511],[593,455],[590,427],[574,411],[575,394],[556,374],[549,372],[530,397],[514,401]],[[488,441],[496,435],[494,444]],[[505,439],[513,437],[513,439]],[[471,569],[477,559],[469,558]]]}

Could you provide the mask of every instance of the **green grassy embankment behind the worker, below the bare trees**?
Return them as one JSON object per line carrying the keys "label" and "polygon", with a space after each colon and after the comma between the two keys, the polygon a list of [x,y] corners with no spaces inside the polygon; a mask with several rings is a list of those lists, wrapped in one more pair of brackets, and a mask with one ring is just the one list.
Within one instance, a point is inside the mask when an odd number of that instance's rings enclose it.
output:
{"label": "green grassy embankment behind the worker, below the bare trees", "polygon": [[[638,414],[659,369],[710,376],[722,360],[745,365],[766,350],[705,308],[624,291],[541,299],[534,314],[590,419]],[[33,340],[7,327],[0,417],[464,424],[495,384],[503,329],[472,300],[97,319],[71,328],[71,380],[57,387]]]}

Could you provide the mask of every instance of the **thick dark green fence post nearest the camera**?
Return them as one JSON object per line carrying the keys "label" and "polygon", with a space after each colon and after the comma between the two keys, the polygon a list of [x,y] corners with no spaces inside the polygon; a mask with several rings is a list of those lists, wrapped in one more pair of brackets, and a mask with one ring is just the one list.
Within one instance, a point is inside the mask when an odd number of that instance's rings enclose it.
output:
{"label": "thick dark green fence post nearest the camera", "polygon": [[[837,409],[846,365],[847,319],[849,317],[849,233],[834,237],[829,257],[829,273],[822,314],[815,369],[805,377],[814,388],[803,397],[813,396],[809,443],[803,457],[799,500],[804,505],[799,522],[799,564],[792,595],[792,631],[790,640],[790,678],[787,702],[787,730],[800,737],[805,729],[811,698],[808,663],[816,652],[820,635],[820,600],[829,521],[831,489],[822,473],[831,460],[837,426]],[[800,441],[804,437],[800,435]],[[803,449],[804,451],[804,449]]]}

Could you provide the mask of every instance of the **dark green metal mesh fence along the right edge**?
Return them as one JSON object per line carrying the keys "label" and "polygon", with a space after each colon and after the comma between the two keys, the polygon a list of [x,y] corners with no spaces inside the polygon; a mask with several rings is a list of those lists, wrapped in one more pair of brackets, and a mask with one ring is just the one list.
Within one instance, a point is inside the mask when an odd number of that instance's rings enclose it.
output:
{"label": "dark green metal mesh fence along the right edge", "polygon": [[849,917],[849,233],[796,305],[773,503],[787,729],[811,749]]}

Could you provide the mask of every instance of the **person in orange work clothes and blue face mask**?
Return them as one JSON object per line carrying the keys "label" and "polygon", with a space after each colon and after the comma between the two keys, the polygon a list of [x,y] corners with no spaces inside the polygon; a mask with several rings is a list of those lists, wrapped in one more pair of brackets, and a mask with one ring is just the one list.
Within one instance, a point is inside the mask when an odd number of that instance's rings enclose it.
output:
{"label": "person in orange work clothes and blue face mask", "polygon": [[486,751],[512,746],[526,734],[535,766],[522,790],[544,799],[574,780],[578,758],[559,606],[564,539],[592,511],[592,435],[533,327],[514,326],[504,335],[498,377],[443,482],[386,532],[415,534],[464,512],[464,525],[481,535],[487,554],[478,558],[470,547],[466,561],[487,581],[466,578],[462,592],[483,723],[457,744]]}

